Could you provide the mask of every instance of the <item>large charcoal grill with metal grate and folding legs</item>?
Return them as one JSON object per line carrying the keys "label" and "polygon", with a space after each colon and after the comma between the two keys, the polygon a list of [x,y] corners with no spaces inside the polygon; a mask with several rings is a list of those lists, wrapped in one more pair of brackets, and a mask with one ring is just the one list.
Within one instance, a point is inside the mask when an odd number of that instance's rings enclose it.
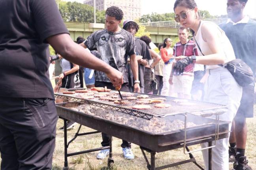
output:
{"label": "large charcoal grill with metal grate and folding legs", "polygon": [[[115,91],[111,91],[115,93]],[[135,96],[141,95],[139,93],[134,93]],[[153,97],[164,97],[166,98],[165,103],[171,103],[175,106],[168,109],[149,109],[149,110],[136,110],[132,109],[131,105],[134,105],[134,102],[130,105],[118,105],[113,104],[113,102],[102,101],[98,99],[85,100],[81,97],[70,94],[55,94],[57,98],[66,99],[69,102],[57,104],[57,112],[60,117],[64,119],[64,143],[65,143],[65,162],[64,169],[68,169],[67,157],[72,155],[77,155],[81,153],[94,152],[97,150],[102,150],[105,148],[110,149],[108,166],[113,164],[112,158],[112,146],[110,140],[109,147],[96,148],[92,150],[87,150],[77,153],[67,153],[68,145],[75,140],[77,136],[88,135],[92,133],[103,132],[108,135],[117,137],[119,139],[124,139],[130,141],[134,144],[137,144],[141,147],[141,151],[147,163],[147,168],[149,170],[160,170],[164,168],[169,168],[179,164],[184,164],[188,162],[193,162],[200,169],[203,169],[200,165],[196,163],[195,158],[192,155],[192,152],[188,149],[188,146],[194,144],[200,144],[203,142],[208,142],[209,147],[204,148],[209,150],[209,160],[211,160],[211,148],[212,141],[223,139],[228,137],[228,124],[230,122],[219,120],[218,115],[224,113],[226,107],[224,105],[217,105],[213,103],[206,102],[197,102],[193,100],[188,100],[189,103],[193,105],[179,105],[179,103],[174,102],[173,100],[177,98],[166,97],[166,96],[157,96],[149,95],[149,98]],[[160,121],[172,121],[172,120],[182,120],[184,121],[184,128],[175,129],[175,130],[166,130],[161,133],[154,133],[151,131],[139,129],[135,126],[129,126],[128,124],[123,124],[113,120],[107,120],[101,116],[88,115],[80,111],[75,111],[71,109],[72,107],[78,107],[79,105],[86,104],[90,107],[100,107],[105,110],[118,111],[120,116],[136,116],[136,120],[141,121],[153,121],[155,118],[158,118]],[[104,113],[102,113],[104,114]],[[208,118],[207,116],[213,116],[215,118]],[[66,131],[66,120],[73,120],[78,122],[81,125],[96,129],[96,132],[79,134],[79,129],[75,137],[67,143],[67,131]],[[188,122],[193,122],[197,124],[194,127],[187,127]],[[190,159],[186,161],[181,161],[179,163],[173,163],[161,167],[155,167],[155,153],[164,152],[176,148],[183,148],[184,153],[188,153]],[[149,161],[145,155],[145,151],[151,153],[151,160]],[[209,170],[211,170],[211,161],[209,161]]]}

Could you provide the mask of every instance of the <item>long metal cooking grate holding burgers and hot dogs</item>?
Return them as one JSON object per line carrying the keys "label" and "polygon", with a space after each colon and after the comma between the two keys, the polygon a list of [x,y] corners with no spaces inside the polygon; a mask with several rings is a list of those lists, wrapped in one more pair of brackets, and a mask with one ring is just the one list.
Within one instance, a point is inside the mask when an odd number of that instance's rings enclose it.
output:
{"label": "long metal cooking grate holding burgers and hot dogs", "polygon": [[[72,89],[72,91],[73,90],[74,89]],[[115,91],[111,91],[111,93],[115,94],[114,92]],[[134,96],[141,95],[141,93],[132,93],[132,94],[134,94]],[[139,116],[141,118],[146,118],[146,119],[151,119],[153,116],[165,117],[169,115],[177,115],[182,113],[192,113],[200,116],[220,115],[224,113],[224,111],[227,108],[225,105],[219,105],[215,103],[207,103],[207,102],[200,102],[200,101],[194,101],[194,100],[187,100],[188,102],[186,103],[182,103],[182,102],[179,103],[179,102],[175,102],[175,100],[179,98],[159,96],[154,94],[147,94],[147,95],[149,96],[149,98],[156,98],[156,97],[166,98],[166,101],[164,103],[171,104],[171,107],[156,108],[152,105],[151,109],[137,110],[132,108],[133,105],[136,105],[136,101],[134,100],[131,100],[130,104],[120,105],[120,104],[115,104],[114,102],[99,100],[99,98],[83,99],[75,96],[75,94],[60,93],[60,94],[55,94],[55,97],[66,99],[69,101],[84,102],[84,103],[88,103],[98,107],[103,107],[103,108],[111,109],[114,111],[120,111],[122,113]]]}

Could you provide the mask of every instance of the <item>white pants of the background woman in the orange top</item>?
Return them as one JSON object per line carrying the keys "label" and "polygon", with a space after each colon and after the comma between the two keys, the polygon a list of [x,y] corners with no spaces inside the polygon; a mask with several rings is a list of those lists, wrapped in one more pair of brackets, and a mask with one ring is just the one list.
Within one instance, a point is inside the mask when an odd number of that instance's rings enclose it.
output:
{"label": "white pants of the background woman in the orange top", "polygon": [[169,83],[171,68],[172,68],[172,63],[164,65],[164,69],[163,69],[163,88],[162,88],[162,91],[161,91],[162,96],[170,96],[171,95],[171,88],[170,88],[171,85]]}

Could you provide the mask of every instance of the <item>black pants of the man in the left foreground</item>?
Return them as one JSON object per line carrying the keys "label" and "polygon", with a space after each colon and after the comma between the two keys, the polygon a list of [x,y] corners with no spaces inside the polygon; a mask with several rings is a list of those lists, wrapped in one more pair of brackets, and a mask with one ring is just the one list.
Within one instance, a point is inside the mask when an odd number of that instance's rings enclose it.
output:
{"label": "black pants of the man in the left foreground", "polygon": [[51,170],[57,113],[48,98],[0,97],[1,170]]}

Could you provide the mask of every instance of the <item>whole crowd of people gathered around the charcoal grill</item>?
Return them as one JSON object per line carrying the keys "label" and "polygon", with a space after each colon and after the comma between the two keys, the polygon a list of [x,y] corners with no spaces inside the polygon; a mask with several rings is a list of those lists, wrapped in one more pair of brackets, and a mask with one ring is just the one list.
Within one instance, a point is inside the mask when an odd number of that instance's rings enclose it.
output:
{"label": "whole crowd of people gathered around the charcoal grill", "polygon": [[[177,31],[179,42],[174,44],[167,37],[158,44],[159,53],[152,49],[150,37],[136,37],[139,25],[135,21],[125,20],[120,28],[123,12],[119,7],[107,8],[105,29],[85,38],[77,37],[75,43],[55,0],[2,2],[0,21],[8,24],[0,28],[1,169],[51,169],[57,121],[55,102],[62,102],[55,101],[53,93],[83,87],[85,82],[87,88],[120,87],[120,91],[228,106],[220,119],[233,122],[229,127],[232,133],[229,138],[216,141],[213,169],[228,170],[230,162],[234,170],[252,170],[245,146],[246,118],[253,117],[254,82],[242,88],[221,65],[240,58],[255,75],[256,22],[243,12],[247,0],[226,2],[230,19],[218,26],[200,19],[194,0],[176,0],[173,10],[175,21],[181,25]],[[50,62],[55,62],[55,76],[59,75],[54,89],[47,71],[48,43],[56,50],[50,57]],[[68,120],[68,128],[74,125]],[[102,133],[101,144],[109,146],[109,135]],[[131,146],[122,140],[126,159],[134,159]],[[201,146],[206,148],[207,143]],[[207,150],[202,153],[207,169]],[[97,158],[104,159],[108,154],[109,149],[101,150]]]}

